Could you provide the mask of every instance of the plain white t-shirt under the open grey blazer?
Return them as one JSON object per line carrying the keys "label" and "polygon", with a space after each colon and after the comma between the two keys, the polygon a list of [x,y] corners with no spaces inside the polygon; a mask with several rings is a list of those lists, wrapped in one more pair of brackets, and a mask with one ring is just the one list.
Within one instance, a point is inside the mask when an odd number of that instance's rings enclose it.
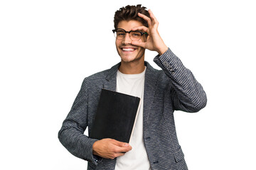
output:
{"label": "plain white t-shirt under the open grey blazer", "polygon": [[134,131],[129,141],[132,150],[121,157],[117,157],[115,170],[151,169],[143,142],[143,94],[145,72],[146,68],[144,72],[140,74],[122,74],[119,70],[117,71],[117,92],[141,98],[141,105],[139,108],[139,115],[137,115],[137,121],[135,122]]}

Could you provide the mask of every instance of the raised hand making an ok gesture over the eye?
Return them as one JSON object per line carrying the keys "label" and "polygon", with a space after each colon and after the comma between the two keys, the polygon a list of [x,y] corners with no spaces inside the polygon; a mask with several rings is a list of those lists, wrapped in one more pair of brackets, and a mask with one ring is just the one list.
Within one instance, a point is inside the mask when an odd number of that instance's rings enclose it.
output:
{"label": "raised hand making an ok gesture over the eye", "polygon": [[159,35],[159,32],[157,30],[159,22],[156,20],[156,17],[153,15],[152,11],[149,9],[150,18],[143,15],[142,13],[138,13],[138,16],[147,21],[147,23],[149,24],[149,28],[146,28],[145,26],[139,26],[133,28],[132,30],[143,30],[144,32],[148,33],[149,36],[147,37],[146,42],[132,41],[132,45],[137,45],[151,51],[156,51],[159,53],[159,55],[164,54],[168,47],[164,44],[164,41]]}

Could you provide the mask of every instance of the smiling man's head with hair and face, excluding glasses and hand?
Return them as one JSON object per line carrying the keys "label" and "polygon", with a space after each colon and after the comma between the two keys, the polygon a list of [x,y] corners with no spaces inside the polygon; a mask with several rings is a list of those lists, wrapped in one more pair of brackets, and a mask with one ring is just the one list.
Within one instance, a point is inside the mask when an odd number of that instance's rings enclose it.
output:
{"label": "smiling man's head with hair and face, excluding glasses and hand", "polygon": [[[149,16],[149,12],[146,11],[146,7],[141,5],[137,6],[125,6],[120,8],[114,14],[114,28],[126,30],[129,32],[132,28],[137,28],[139,26],[149,27],[148,23],[141,17],[138,13],[142,13],[145,16]],[[132,39],[129,37],[129,33],[124,33],[123,39],[116,39],[116,47],[122,62],[144,62],[144,52],[143,47],[132,45]],[[142,35],[138,41],[146,41],[146,35]]]}

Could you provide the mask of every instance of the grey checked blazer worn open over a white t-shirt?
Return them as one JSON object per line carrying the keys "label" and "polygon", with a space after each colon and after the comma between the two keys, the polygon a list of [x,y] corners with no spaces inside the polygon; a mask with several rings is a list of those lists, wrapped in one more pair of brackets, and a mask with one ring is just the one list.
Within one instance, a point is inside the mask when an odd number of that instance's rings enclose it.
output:
{"label": "grey checked blazer worn open over a white t-shirt", "polygon": [[[161,70],[146,65],[143,108],[143,140],[151,169],[188,169],[174,125],[174,110],[198,112],[206,106],[206,94],[190,70],[171,50],[154,58]],[[119,63],[120,64],[120,63]],[[90,138],[101,89],[116,90],[117,69],[93,74],[82,82],[75,102],[63,122],[58,137],[68,151],[88,162],[87,169],[114,169],[116,159],[92,154],[96,141]],[[84,135],[88,127],[89,137]]]}

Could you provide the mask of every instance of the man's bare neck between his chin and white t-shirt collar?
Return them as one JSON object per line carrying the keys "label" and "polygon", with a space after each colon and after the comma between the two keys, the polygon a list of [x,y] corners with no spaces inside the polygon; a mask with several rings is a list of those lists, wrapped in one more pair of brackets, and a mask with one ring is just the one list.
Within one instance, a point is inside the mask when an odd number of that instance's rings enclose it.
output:
{"label": "man's bare neck between his chin and white t-shirt collar", "polygon": [[134,62],[124,62],[122,60],[121,65],[119,67],[119,71],[123,74],[139,74],[144,72],[144,69],[144,59]]}

